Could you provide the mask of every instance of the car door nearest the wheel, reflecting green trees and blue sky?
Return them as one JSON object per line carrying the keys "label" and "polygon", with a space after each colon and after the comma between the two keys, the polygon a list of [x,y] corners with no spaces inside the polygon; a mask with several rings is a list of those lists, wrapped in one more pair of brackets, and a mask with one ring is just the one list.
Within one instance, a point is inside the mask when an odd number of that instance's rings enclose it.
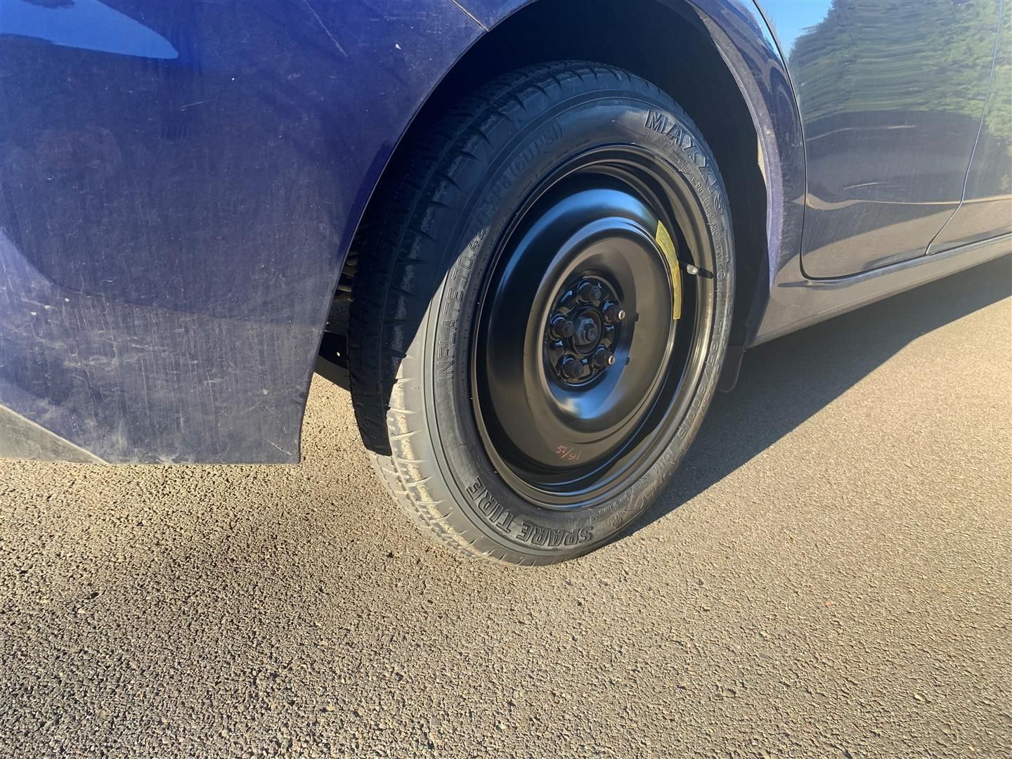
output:
{"label": "car door nearest the wheel, reflecting green trees and blue sky", "polygon": [[1000,0],[764,0],[805,133],[807,276],[925,253],[962,198]]}

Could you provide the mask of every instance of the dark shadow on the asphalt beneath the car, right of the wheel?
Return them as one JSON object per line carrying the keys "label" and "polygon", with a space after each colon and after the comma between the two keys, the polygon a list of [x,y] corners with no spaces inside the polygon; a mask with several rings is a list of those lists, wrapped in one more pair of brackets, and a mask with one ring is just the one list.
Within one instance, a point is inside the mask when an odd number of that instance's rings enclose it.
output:
{"label": "dark shadow on the asphalt beneath the car, right of the wheel", "polygon": [[894,296],[748,351],[671,483],[630,530],[720,482],[918,337],[1012,296],[1012,256]]}

